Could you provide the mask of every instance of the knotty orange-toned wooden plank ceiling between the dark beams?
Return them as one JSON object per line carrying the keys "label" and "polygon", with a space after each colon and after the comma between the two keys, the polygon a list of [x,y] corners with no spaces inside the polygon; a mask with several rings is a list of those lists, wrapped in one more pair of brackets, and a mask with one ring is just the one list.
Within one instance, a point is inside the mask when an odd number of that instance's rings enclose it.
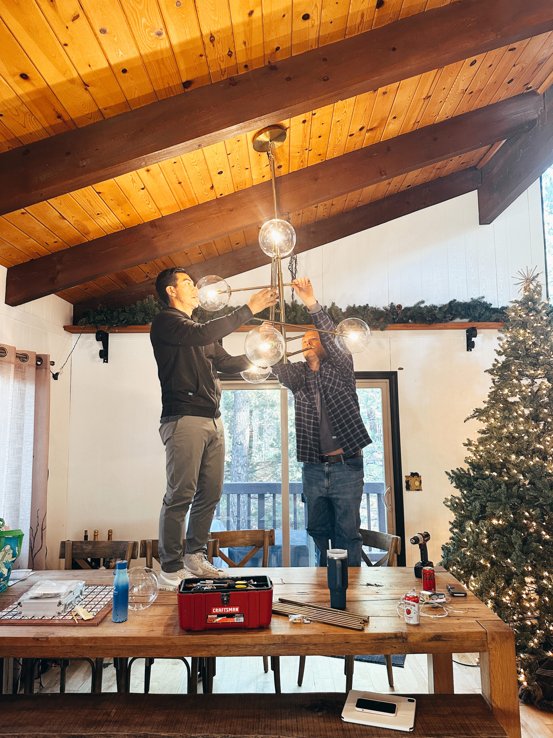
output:
{"label": "knotty orange-toned wooden plank ceiling between the dark beams", "polygon": [[[2,0],[0,151],[330,44],[450,0]],[[553,82],[553,33],[360,94],[282,121],[277,174],[481,108]],[[0,218],[10,267],[270,179],[254,131],[31,205]],[[495,151],[387,179],[290,213],[302,227],[481,166]],[[1,156],[1,154],[0,154]],[[69,302],[114,292],[257,241],[257,228],[60,292]]]}

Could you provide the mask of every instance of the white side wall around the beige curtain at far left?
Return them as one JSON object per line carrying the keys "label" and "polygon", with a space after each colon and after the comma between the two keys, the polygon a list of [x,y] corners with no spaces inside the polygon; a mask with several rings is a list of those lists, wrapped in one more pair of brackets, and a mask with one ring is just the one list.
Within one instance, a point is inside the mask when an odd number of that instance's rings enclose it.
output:
{"label": "white side wall around the beige curtain at far left", "polygon": [[[50,354],[55,370],[58,369],[72,349],[71,334],[63,330],[63,325],[72,323],[73,306],[52,294],[18,308],[10,307],[4,303],[6,273],[5,266],[0,265],[0,342],[37,354]],[[59,542],[66,537],[70,388],[71,359],[62,376],[57,382],[52,381],[50,387],[46,545],[47,562],[52,568],[58,568]]]}

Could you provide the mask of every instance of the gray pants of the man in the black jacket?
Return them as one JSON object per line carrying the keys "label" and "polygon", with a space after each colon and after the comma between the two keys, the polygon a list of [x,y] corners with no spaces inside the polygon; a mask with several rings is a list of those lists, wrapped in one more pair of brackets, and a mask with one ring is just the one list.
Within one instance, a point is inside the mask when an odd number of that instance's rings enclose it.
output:
{"label": "gray pants of the man in the black jacket", "polygon": [[187,554],[206,550],[209,528],[223,494],[225,432],[222,418],[184,415],[159,428],[165,446],[167,492],[159,515],[161,569],[182,568],[184,519],[190,508]]}

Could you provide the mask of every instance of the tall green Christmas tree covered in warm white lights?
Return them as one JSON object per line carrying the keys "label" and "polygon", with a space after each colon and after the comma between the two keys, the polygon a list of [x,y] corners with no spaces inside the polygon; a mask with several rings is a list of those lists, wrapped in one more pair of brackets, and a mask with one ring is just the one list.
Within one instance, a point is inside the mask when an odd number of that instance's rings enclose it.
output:
{"label": "tall green Christmas tree covered in warm white lights", "polygon": [[553,308],[535,270],[520,275],[490,393],[470,415],[483,427],[464,444],[467,468],[448,473],[460,494],[445,500],[442,563],[514,630],[521,697],[553,708],[542,676],[553,669]]}

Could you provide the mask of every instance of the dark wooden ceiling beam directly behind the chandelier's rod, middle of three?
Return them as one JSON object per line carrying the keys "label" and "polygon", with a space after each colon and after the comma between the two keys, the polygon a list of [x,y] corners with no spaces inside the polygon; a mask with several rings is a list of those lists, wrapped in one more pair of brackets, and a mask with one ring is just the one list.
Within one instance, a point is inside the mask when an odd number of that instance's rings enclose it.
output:
{"label": "dark wooden ceiling beam directly behind the chandelier's rod, middle of three", "polygon": [[[392,179],[501,139],[520,135],[538,118],[543,96],[526,92],[441,123],[428,125],[277,180],[279,211],[293,213]],[[185,247],[200,246],[271,218],[271,183],[204,202],[164,218],[11,266],[6,302],[21,305]]]}

